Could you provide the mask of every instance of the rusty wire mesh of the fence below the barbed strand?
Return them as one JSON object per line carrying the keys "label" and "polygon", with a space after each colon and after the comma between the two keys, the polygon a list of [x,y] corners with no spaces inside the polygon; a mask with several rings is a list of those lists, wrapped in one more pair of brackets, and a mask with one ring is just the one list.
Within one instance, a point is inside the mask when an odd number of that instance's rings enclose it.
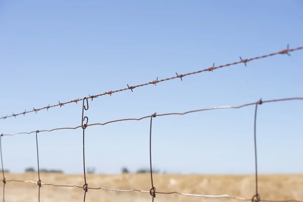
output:
{"label": "rusty wire mesh of the fence below the barbed strand", "polygon": [[[40,201],[40,187],[41,185],[48,185],[48,186],[56,186],[56,187],[77,187],[77,188],[82,188],[84,190],[84,199],[83,201],[85,202],[85,197],[86,197],[86,193],[89,189],[103,189],[103,190],[107,190],[107,191],[121,191],[121,192],[131,192],[131,191],[138,191],[138,192],[143,192],[143,193],[149,193],[152,196],[152,201],[154,201],[154,198],[156,197],[156,193],[157,194],[179,194],[179,195],[184,195],[184,196],[196,196],[196,197],[213,197],[213,198],[222,198],[222,197],[228,197],[228,198],[233,198],[233,199],[238,199],[238,200],[251,200],[252,202],[260,202],[260,201],[265,201],[265,202],[269,202],[269,201],[275,201],[275,202],[288,202],[288,201],[296,201],[296,202],[303,202],[301,200],[295,200],[295,199],[289,199],[289,200],[264,200],[261,199],[261,196],[258,192],[258,167],[257,167],[257,141],[256,141],[256,124],[257,124],[257,109],[258,109],[258,105],[264,104],[264,103],[273,103],[273,102],[281,102],[281,101],[286,101],[286,100],[303,100],[303,97],[289,97],[289,98],[280,98],[280,99],[270,99],[270,100],[258,100],[258,102],[254,102],[254,103],[248,103],[248,104],[244,104],[244,105],[240,105],[240,106],[222,106],[222,107],[215,107],[215,108],[206,108],[206,109],[200,109],[200,110],[192,110],[192,111],[187,111],[184,113],[167,113],[167,114],[159,114],[157,115],[157,113],[154,113],[150,116],[145,116],[145,117],[141,117],[141,118],[131,118],[131,119],[119,119],[119,120],[114,120],[114,121],[109,121],[106,123],[95,123],[95,124],[88,124],[88,117],[84,116],[84,111],[88,110],[88,98],[84,97],[83,99],[83,105],[82,105],[82,123],[81,126],[77,126],[75,128],[56,128],[56,129],[52,129],[52,130],[36,130],[36,131],[32,131],[32,132],[22,132],[25,134],[30,134],[35,132],[36,133],[36,148],[37,148],[37,166],[38,166],[38,181],[34,182],[32,180],[28,180],[28,181],[24,181],[24,180],[6,180],[5,178],[5,174],[4,174],[4,166],[3,166],[3,155],[2,155],[2,137],[5,135],[8,136],[12,136],[12,135],[16,135],[16,134],[22,134],[22,133],[15,133],[15,134],[1,134],[0,135],[0,153],[1,153],[1,163],[2,163],[2,172],[3,172],[3,198],[5,201],[5,185],[7,182],[27,182],[27,183],[35,183],[38,185],[39,190],[38,190],[38,201]],[[86,106],[85,106],[85,101],[86,101]],[[247,106],[251,106],[251,105],[256,105],[255,108],[255,121],[254,121],[254,145],[255,145],[255,179],[256,179],[256,194],[254,196],[252,196],[252,198],[245,198],[245,197],[239,197],[239,196],[230,196],[229,194],[223,194],[223,195],[203,195],[203,194],[193,194],[193,193],[182,193],[182,192],[178,192],[178,191],[173,191],[173,192],[162,192],[162,191],[156,191],[156,187],[154,186],[154,180],[153,180],[153,169],[152,169],[152,164],[151,164],[151,129],[152,129],[152,120],[155,117],[158,116],[169,116],[169,115],[185,115],[185,114],[189,114],[189,113],[194,113],[194,112],[201,112],[201,111],[208,111],[208,110],[216,110],[216,109],[239,109],[239,108],[243,108],[243,107],[247,107]],[[150,118],[150,126],[149,126],[149,163],[150,163],[150,180],[151,180],[151,188],[149,191],[146,190],[139,190],[139,189],[130,189],[130,190],[123,190],[123,189],[108,189],[108,188],[104,188],[104,187],[89,187],[87,180],[86,180],[86,172],[85,172],[85,144],[84,144],[84,140],[85,140],[85,129],[88,126],[92,126],[92,125],[105,125],[105,124],[109,124],[109,123],[114,123],[114,122],[119,122],[119,121],[128,121],[128,120],[142,120],[145,118]],[[86,120],[86,122],[85,122]],[[83,186],[77,186],[77,185],[56,185],[56,184],[51,184],[51,183],[42,183],[41,179],[40,179],[40,170],[39,170],[39,155],[38,155],[38,138],[37,138],[37,133],[39,132],[51,132],[54,130],[60,130],[60,129],[76,129],[81,127],[83,129],[83,173],[84,173],[84,185]]]}

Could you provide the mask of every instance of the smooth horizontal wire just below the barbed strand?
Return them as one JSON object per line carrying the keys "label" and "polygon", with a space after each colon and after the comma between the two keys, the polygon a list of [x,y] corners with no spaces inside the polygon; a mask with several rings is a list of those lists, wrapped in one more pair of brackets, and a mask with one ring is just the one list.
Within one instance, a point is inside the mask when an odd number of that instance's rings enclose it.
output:
{"label": "smooth horizontal wire just below the barbed strand", "polygon": [[[280,99],[269,99],[269,100],[263,100],[262,103],[273,103],[273,102],[282,102],[282,101],[287,101],[287,100],[303,100],[303,97],[288,97],[288,98],[280,98]],[[160,116],[170,116],[170,115],[185,115],[185,114],[189,114],[189,113],[195,113],[195,112],[202,112],[202,111],[209,111],[209,110],[219,110],[219,109],[239,109],[239,108],[243,108],[243,107],[248,107],[251,105],[256,105],[257,103],[248,103],[248,104],[244,104],[244,105],[240,105],[240,106],[221,106],[221,107],[213,107],[213,108],[205,108],[205,109],[199,109],[199,110],[192,110],[192,111],[187,111],[187,112],[183,112],[183,113],[167,113],[167,114],[157,114],[157,117]],[[85,118],[85,117],[84,117]],[[87,117],[86,117],[87,118]],[[145,116],[145,117],[141,117],[141,118],[129,118],[129,119],[117,119],[114,121],[108,121],[105,123],[93,123],[93,124],[84,124],[85,128],[88,126],[95,126],[95,125],[106,125],[109,123],[114,123],[114,122],[120,122],[120,121],[140,121],[142,119],[146,119],[146,118],[150,118],[149,116]],[[88,118],[87,118],[88,121]],[[83,124],[83,123],[82,123]],[[77,128],[81,128],[81,126],[77,126],[77,127],[64,127],[64,128],[54,128],[51,130],[39,130],[39,132],[52,132],[55,130],[75,130]],[[31,133],[35,133],[36,131],[31,131],[31,132],[18,132],[18,133],[13,133],[13,134],[2,134],[3,136],[14,136],[14,135],[18,135],[18,134],[31,134]]]}

